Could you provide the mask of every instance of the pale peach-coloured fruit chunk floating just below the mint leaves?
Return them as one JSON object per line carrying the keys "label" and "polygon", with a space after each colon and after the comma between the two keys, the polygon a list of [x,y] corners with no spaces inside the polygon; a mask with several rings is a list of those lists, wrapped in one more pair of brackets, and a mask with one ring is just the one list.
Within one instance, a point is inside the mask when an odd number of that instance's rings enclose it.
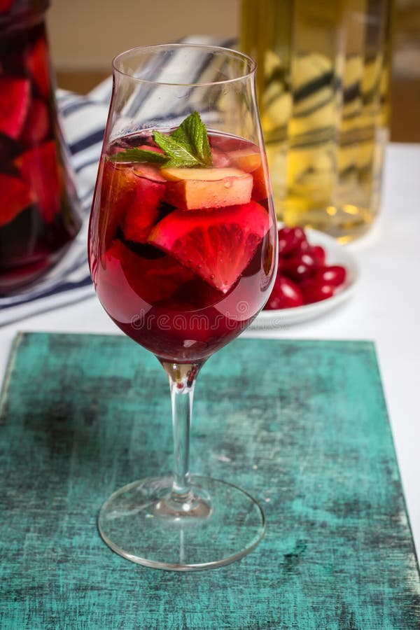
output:
{"label": "pale peach-coloured fruit chunk floating just below the mint leaves", "polygon": [[253,178],[235,168],[161,169],[168,180],[165,200],[181,210],[223,208],[251,200]]}

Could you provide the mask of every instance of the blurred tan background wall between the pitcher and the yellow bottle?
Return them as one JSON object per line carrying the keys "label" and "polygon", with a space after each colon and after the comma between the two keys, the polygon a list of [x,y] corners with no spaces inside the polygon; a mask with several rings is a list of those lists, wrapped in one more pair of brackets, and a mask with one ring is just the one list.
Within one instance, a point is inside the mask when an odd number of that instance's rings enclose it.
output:
{"label": "blurred tan background wall between the pitcher and the yellow bottle", "polygon": [[119,52],[183,36],[239,33],[240,0],[51,0],[53,63],[60,70],[111,69]]}

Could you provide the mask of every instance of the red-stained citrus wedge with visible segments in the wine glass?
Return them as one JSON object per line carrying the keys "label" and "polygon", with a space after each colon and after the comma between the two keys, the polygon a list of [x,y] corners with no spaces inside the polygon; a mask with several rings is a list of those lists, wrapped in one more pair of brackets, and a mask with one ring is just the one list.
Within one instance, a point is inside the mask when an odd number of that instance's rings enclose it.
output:
{"label": "red-stained citrus wedge with visible segments in the wine glass", "polygon": [[152,228],[148,243],[227,293],[269,227],[267,211],[252,201],[211,212],[175,210]]}

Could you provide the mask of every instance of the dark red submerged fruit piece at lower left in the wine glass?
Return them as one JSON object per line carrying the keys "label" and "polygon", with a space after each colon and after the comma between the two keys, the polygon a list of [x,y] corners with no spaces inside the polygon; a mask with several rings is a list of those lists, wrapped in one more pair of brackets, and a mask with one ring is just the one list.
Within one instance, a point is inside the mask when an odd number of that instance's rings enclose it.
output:
{"label": "dark red submerged fruit piece at lower left in the wine glass", "polygon": [[[131,288],[148,304],[168,300],[179,286],[194,277],[171,256],[142,258],[121,241],[113,241],[102,255],[98,274],[120,295],[124,295],[125,288]],[[110,295],[109,299],[115,302],[115,296]]]}

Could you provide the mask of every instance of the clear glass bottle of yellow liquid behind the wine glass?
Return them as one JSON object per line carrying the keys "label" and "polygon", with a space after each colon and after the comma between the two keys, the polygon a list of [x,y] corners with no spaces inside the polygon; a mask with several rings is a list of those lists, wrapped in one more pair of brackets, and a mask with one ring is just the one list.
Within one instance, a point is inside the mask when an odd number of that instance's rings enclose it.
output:
{"label": "clear glass bottle of yellow liquid behind the wine glass", "polygon": [[242,0],[276,213],[349,241],[379,211],[391,0]]}

